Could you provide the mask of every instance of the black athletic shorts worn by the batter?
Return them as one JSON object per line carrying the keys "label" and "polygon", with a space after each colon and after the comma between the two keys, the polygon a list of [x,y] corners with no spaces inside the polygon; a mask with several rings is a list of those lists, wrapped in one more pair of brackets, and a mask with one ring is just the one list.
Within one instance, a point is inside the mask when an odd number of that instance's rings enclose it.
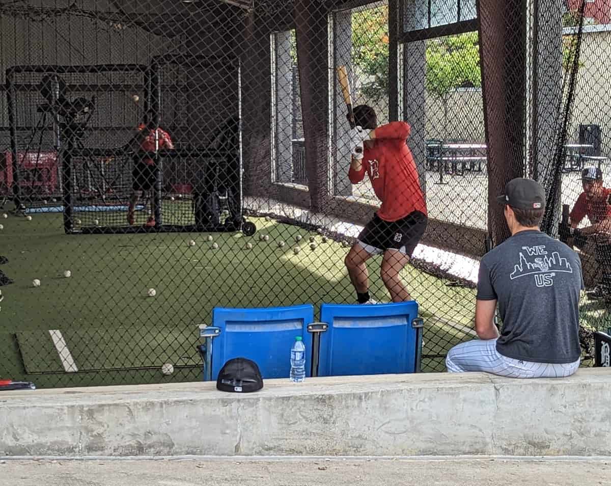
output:
{"label": "black athletic shorts worn by the batter", "polygon": [[371,254],[396,249],[411,257],[425,232],[427,221],[426,215],[420,211],[409,213],[397,221],[384,221],[376,214],[360,232],[359,243]]}

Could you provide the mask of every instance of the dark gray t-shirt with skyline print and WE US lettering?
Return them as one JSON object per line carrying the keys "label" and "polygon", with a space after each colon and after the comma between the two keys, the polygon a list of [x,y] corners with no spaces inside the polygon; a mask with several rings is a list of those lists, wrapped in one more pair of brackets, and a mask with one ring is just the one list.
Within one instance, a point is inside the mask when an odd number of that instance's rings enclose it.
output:
{"label": "dark gray t-shirt with skyline print and WE US lettering", "polygon": [[537,230],[521,231],[480,263],[477,299],[499,301],[497,351],[536,363],[579,359],[579,256]]}

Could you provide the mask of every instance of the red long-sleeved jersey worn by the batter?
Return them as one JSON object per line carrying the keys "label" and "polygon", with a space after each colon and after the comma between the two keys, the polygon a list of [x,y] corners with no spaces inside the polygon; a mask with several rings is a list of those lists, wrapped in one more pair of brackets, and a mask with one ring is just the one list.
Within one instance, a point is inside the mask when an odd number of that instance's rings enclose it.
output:
{"label": "red long-sleeved jersey worn by the batter", "polygon": [[426,202],[414,156],[406,139],[411,127],[406,122],[390,122],[376,128],[373,147],[365,147],[362,168],[359,172],[352,167],[348,178],[353,184],[369,175],[373,191],[382,202],[378,216],[384,221],[397,221],[409,213],[420,211],[426,215]]}

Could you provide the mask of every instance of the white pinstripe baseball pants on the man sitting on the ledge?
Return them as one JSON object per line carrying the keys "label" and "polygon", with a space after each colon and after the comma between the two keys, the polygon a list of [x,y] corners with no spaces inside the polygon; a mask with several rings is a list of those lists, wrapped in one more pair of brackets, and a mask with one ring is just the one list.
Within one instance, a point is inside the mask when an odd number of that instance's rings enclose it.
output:
{"label": "white pinstripe baseball pants on the man sitting on the ledge", "polygon": [[511,378],[560,378],[577,371],[580,360],[574,363],[533,363],[507,358],[496,350],[496,339],[474,339],[448,351],[445,366],[450,373],[485,371]]}

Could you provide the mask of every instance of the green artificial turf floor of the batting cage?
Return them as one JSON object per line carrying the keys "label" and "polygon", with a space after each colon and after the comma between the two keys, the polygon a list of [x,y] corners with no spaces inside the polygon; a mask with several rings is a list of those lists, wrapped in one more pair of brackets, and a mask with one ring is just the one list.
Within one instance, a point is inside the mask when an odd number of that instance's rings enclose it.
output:
{"label": "green artificial turf floor of the batting cage", "polygon": [[[113,214],[117,221],[125,217]],[[90,213],[78,216],[82,224],[92,220]],[[343,265],[348,248],[322,243],[321,235],[297,226],[250,219],[257,234],[213,234],[218,249],[203,233],[65,235],[60,214],[1,219],[0,254],[9,258],[2,270],[15,284],[0,289],[0,375],[38,386],[197,380],[198,326],[210,324],[215,306],[312,303],[318,315],[323,302],[354,302]],[[260,241],[260,234],[269,240]],[[379,257],[368,263],[371,293],[389,301],[379,265]],[[70,278],[62,276],[64,270]],[[35,278],[40,287],[32,287]],[[448,287],[413,267],[404,279],[425,317],[425,354],[444,354],[470,338],[474,290]],[[154,298],[147,296],[149,288],[156,289]],[[431,316],[445,320],[426,319]],[[64,371],[49,330],[62,333],[78,373]],[[443,369],[442,359],[429,361],[428,369]],[[163,363],[175,364],[172,377],[161,375]]]}

